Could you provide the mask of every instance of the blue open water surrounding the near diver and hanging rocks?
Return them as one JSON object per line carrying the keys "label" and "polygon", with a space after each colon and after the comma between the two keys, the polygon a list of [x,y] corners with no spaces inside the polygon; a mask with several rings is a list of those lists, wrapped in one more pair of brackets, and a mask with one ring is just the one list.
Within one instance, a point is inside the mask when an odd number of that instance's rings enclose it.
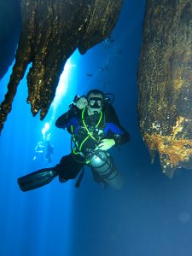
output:
{"label": "blue open water surrounding the near diver and hanging rocks", "polygon": [[[0,255],[1,256],[191,256],[192,172],[165,177],[158,159],[150,162],[137,124],[137,63],[142,44],[144,1],[126,1],[113,42],[99,44],[86,55],[71,58],[66,93],[40,121],[26,104],[26,78],[19,85],[12,112],[0,137]],[[9,81],[1,80],[1,100]],[[91,74],[88,75],[88,74]],[[46,161],[32,160],[49,123],[54,145],[53,165],[70,151],[67,131],[55,128],[77,93],[98,88],[115,95],[114,107],[131,142],[113,150],[126,179],[121,190],[101,190],[86,170],[79,189],[75,181],[26,193],[17,178]]]}

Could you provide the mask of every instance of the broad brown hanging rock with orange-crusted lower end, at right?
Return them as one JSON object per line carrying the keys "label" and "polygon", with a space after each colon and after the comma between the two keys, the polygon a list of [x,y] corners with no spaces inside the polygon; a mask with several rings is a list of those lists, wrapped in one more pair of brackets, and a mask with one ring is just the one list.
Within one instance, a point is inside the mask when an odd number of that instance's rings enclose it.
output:
{"label": "broad brown hanging rock with orange-crusted lower end, at right", "polygon": [[143,139],[166,176],[192,168],[192,1],[148,0],[137,73]]}

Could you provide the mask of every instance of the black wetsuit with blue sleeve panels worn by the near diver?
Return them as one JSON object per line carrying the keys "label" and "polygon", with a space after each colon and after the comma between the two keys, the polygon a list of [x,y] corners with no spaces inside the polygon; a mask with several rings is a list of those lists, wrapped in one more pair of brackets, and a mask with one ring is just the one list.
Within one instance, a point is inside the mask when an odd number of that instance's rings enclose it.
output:
{"label": "black wetsuit with blue sleeve panels worn by the near diver", "polygon": [[[73,126],[75,140],[79,145],[82,144],[81,152],[84,155],[89,148],[95,149],[96,144],[104,138],[113,138],[116,145],[126,143],[130,140],[129,132],[125,131],[125,128],[119,124],[119,119],[114,108],[108,103],[103,107],[102,116],[100,113],[89,116],[85,109],[84,123],[82,120],[82,111],[76,106],[72,106],[67,113],[62,114],[56,120],[55,125],[58,128],[67,129],[70,133],[72,133],[71,127]],[[84,124],[96,140],[88,136],[88,131],[84,127]],[[86,137],[88,138],[84,142]],[[74,155],[71,153],[63,156],[60,164],[56,166],[60,181],[65,182],[68,179],[77,177],[83,166],[84,158],[80,154]]]}

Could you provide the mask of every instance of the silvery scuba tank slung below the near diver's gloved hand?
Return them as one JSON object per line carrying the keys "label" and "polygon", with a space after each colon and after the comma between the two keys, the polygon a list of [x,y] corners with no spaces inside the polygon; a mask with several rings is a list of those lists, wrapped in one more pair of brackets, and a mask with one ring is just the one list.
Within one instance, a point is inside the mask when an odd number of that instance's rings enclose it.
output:
{"label": "silvery scuba tank slung below the near diver's gloved hand", "polygon": [[118,172],[114,166],[112,157],[108,153],[100,149],[90,149],[89,154],[86,155],[89,160],[89,165],[93,172],[113,189],[120,189],[124,184],[124,177]]}

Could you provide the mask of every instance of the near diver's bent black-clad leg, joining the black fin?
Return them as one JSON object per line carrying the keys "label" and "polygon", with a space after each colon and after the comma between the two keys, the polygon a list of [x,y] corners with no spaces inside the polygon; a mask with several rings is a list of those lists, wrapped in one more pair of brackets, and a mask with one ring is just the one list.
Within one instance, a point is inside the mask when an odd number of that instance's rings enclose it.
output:
{"label": "near diver's bent black-clad leg, joining the black fin", "polygon": [[79,158],[75,160],[73,154],[63,156],[59,165],[56,165],[59,181],[64,183],[67,182],[68,179],[77,177],[83,166],[84,163],[82,163],[82,159]]}

